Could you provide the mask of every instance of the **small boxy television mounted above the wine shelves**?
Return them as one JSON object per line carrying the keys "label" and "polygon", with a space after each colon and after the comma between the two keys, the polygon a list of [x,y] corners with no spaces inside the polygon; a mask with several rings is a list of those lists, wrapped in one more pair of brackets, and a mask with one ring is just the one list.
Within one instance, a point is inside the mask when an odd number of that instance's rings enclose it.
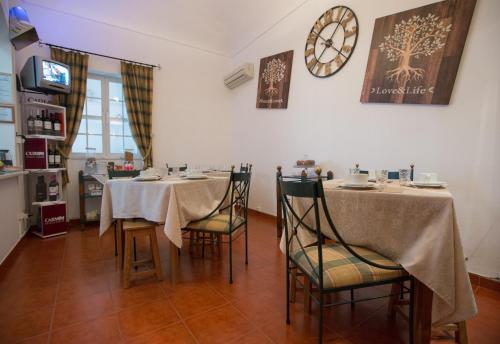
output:
{"label": "small boxy television mounted above the wine shelves", "polygon": [[21,70],[24,88],[43,93],[69,93],[71,75],[69,66],[41,56],[32,56]]}

